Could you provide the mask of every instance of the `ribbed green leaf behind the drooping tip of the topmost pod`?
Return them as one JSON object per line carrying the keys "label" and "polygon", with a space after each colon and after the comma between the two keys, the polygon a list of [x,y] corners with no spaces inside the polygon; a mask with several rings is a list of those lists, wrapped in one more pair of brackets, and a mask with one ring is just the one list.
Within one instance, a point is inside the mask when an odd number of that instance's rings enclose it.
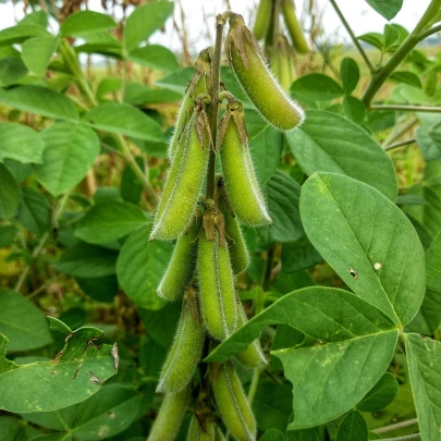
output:
{"label": "ribbed green leaf behind the drooping tip of the topmost pod", "polygon": [[285,136],[306,174],[340,173],[371,185],[393,201],[396,199],[392,161],[358,125],[330,112],[308,110],[302,127]]}

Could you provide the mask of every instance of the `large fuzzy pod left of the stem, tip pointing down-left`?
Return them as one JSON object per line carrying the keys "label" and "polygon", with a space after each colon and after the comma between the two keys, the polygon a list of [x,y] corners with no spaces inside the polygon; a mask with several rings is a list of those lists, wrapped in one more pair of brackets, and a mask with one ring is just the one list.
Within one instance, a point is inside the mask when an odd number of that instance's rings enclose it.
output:
{"label": "large fuzzy pod left of the stem, tip pointing down-left", "polygon": [[208,167],[210,134],[204,102],[196,105],[159,201],[150,241],[171,241],[192,222]]}

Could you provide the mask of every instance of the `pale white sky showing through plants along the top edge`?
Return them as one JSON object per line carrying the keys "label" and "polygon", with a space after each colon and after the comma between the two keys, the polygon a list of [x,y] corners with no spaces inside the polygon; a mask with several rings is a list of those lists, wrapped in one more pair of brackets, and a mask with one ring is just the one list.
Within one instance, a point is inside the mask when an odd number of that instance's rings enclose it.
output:
{"label": "pale white sky showing through plants along the top edge", "polygon": [[[324,29],[332,41],[350,42],[351,40],[347,33],[341,25],[329,0],[315,1],[319,10],[322,11]],[[402,10],[391,23],[399,23],[407,29],[411,29],[421,16],[429,1],[430,0],[404,0]],[[253,19],[256,14],[257,0],[229,0],[229,2],[234,12],[243,14],[246,22],[253,23]],[[309,0],[295,0],[297,11],[303,11],[305,2],[309,2]],[[388,23],[387,20],[373,11],[365,0],[336,0],[336,2],[356,35],[368,32],[382,32],[384,24]],[[215,15],[226,10],[228,0],[179,0],[176,3],[180,3],[185,11],[185,24],[192,52],[196,53],[211,45],[213,32],[208,30],[209,26],[207,26],[207,23],[213,23]],[[89,0],[89,9],[102,12],[101,1]],[[121,16],[121,11],[117,11],[117,13]],[[20,20],[22,16],[23,7],[21,3],[17,3],[15,7],[15,12],[12,1],[9,1],[7,4],[0,3],[0,29],[13,26],[15,17]],[[181,9],[177,4],[174,16],[176,22],[181,24]],[[181,49],[180,39],[173,28],[171,20],[167,23],[166,33],[156,33],[151,37],[150,42],[161,44],[176,51]]]}

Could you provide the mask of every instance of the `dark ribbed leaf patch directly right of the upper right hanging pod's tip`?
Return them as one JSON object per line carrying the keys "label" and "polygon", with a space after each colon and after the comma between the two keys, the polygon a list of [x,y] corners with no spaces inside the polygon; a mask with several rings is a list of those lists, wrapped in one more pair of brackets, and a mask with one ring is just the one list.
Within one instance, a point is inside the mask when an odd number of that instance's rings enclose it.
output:
{"label": "dark ribbed leaf patch directly right of the upper right hanging pod's tip", "polygon": [[301,186],[287,174],[277,171],[264,188],[272,226],[262,226],[259,233],[267,243],[295,242],[303,234],[298,213]]}

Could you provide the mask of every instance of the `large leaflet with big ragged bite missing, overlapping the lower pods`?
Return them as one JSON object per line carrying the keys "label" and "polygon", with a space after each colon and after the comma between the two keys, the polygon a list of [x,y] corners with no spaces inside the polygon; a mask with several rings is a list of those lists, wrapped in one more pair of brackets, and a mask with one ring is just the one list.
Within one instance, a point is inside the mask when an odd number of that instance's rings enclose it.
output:
{"label": "large leaflet with big ragged bite missing, overlapping the lower pods", "polygon": [[271,352],[293,383],[292,429],[321,425],[356,405],[388,368],[399,333],[379,309],[347,291],[306,287],[253,317],[205,360],[225,362],[274,323],[290,324],[319,343]]}

